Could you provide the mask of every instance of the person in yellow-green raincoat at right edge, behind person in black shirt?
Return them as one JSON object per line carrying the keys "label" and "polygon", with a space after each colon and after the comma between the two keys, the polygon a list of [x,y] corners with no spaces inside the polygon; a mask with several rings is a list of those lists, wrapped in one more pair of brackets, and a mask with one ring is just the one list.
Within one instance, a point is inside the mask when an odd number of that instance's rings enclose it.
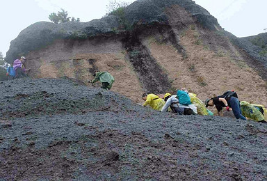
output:
{"label": "person in yellow-green raincoat at right edge, behind person in black shirt", "polygon": [[248,102],[241,101],[240,107],[243,116],[252,119],[256,122],[267,123],[265,120],[266,118],[264,118],[264,116],[267,116],[267,111],[263,105],[250,104]]}

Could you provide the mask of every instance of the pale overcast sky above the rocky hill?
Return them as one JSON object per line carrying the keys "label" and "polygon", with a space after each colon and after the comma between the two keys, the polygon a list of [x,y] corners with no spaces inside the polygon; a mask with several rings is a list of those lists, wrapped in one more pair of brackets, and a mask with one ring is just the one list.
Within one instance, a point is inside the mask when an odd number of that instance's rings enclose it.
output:
{"label": "pale overcast sky above the rocky hill", "polygon": [[[1,0],[0,52],[6,56],[10,41],[35,22],[49,22],[61,8],[81,22],[99,19],[112,0]],[[120,0],[117,0],[120,1]],[[133,2],[134,0],[122,0]],[[267,29],[267,0],[194,0],[218,19],[220,26],[235,36],[254,36]]]}

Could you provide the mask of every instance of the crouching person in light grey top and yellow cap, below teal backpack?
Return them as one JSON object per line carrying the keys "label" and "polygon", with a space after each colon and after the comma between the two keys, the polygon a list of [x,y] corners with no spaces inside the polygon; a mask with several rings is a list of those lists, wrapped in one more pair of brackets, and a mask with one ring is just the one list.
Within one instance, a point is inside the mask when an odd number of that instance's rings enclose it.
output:
{"label": "crouching person in light grey top and yellow cap, below teal backpack", "polygon": [[176,95],[171,95],[170,93],[165,93],[164,95],[165,104],[161,109],[162,112],[167,111],[170,107],[172,112],[179,113],[179,115],[195,115],[197,114],[197,108],[193,104],[182,105],[179,104],[179,100]]}

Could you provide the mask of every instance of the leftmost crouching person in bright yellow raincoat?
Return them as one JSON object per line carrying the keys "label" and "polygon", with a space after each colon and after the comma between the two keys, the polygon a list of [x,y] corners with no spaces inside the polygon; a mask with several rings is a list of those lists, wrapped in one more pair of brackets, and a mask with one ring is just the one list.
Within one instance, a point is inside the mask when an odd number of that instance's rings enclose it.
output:
{"label": "leftmost crouching person in bright yellow raincoat", "polygon": [[165,104],[163,99],[154,94],[147,95],[146,93],[144,93],[142,99],[145,100],[145,103],[143,104],[144,107],[149,105],[150,107],[152,107],[152,109],[155,109],[157,111],[161,111],[162,107]]}

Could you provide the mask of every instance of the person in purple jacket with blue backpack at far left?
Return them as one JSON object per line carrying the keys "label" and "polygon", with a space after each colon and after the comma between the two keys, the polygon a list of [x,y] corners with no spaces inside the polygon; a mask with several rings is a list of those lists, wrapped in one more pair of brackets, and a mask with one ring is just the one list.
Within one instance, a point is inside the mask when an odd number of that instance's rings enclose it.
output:
{"label": "person in purple jacket with blue backpack at far left", "polygon": [[26,72],[28,72],[29,69],[26,69],[25,61],[26,58],[22,56],[11,63],[11,65],[6,70],[6,76],[8,76],[8,80],[28,77],[28,74],[26,74]]}

